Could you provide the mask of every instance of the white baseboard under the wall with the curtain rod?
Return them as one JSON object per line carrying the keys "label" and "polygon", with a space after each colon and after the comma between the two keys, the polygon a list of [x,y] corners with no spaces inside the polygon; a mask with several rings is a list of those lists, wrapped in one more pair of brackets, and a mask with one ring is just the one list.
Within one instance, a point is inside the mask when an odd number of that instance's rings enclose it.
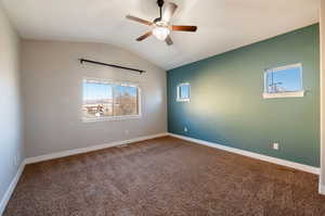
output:
{"label": "white baseboard under the wall with the curtain rod", "polygon": [[118,147],[118,145],[122,145],[122,144],[129,144],[132,142],[140,142],[140,141],[150,140],[150,139],[154,139],[154,138],[158,138],[158,137],[165,137],[165,136],[168,136],[168,132],[145,136],[145,137],[139,137],[139,138],[129,139],[129,140],[116,141],[116,142],[110,142],[110,143],[106,143],[106,144],[98,144],[98,145],[87,147],[87,148],[81,148],[81,149],[67,150],[67,151],[63,151],[63,152],[56,152],[56,153],[46,154],[46,155],[40,155],[40,156],[35,156],[35,157],[28,157],[25,160],[25,162],[26,162],[26,164],[34,164],[34,163],[38,163],[38,162],[49,161],[49,160],[53,160],[53,158],[60,158],[60,157],[64,157],[64,156],[70,156],[74,154],[98,151],[98,150],[102,150],[102,149]]}

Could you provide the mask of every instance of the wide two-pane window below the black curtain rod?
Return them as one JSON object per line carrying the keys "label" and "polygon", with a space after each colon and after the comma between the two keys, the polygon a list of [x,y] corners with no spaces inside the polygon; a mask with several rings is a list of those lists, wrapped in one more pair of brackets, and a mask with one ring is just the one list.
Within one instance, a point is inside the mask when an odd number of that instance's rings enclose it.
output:
{"label": "wide two-pane window below the black curtain rod", "polygon": [[133,84],[83,79],[83,119],[140,116],[140,88]]}

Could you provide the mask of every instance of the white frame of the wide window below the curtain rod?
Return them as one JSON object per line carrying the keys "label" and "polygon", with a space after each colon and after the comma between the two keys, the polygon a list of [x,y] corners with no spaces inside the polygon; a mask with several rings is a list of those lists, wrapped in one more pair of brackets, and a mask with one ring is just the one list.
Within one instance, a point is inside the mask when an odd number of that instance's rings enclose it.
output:
{"label": "white frame of the wide window below the curtain rod", "polygon": [[[121,116],[104,116],[104,117],[93,117],[88,118],[83,116],[82,106],[83,106],[83,82],[84,81],[96,81],[101,84],[109,84],[109,85],[120,85],[120,86],[130,86],[138,88],[138,115],[121,115]],[[142,91],[139,84],[131,82],[131,81],[117,81],[112,79],[104,79],[104,78],[93,78],[93,77],[83,77],[82,85],[81,85],[81,119],[83,123],[93,123],[93,122],[105,122],[105,120],[128,120],[128,119],[136,119],[142,117]],[[114,100],[114,92],[113,92],[113,100]],[[114,105],[114,102],[113,102]]]}

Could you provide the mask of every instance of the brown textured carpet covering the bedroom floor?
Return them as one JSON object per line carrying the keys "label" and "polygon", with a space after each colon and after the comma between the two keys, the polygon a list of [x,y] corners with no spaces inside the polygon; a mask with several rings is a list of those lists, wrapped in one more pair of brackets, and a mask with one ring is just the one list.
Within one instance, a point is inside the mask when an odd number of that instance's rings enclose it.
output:
{"label": "brown textured carpet covering the bedroom floor", "polygon": [[317,176],[171,137],[27,165],[4,216],[325,215]]}

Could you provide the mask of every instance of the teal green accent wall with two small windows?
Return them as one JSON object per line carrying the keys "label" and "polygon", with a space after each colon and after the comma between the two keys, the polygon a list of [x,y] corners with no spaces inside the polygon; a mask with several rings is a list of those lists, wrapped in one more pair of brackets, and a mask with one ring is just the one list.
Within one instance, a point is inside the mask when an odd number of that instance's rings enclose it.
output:
{"label": "teal green accent wall with two small windows", "polygon": [[[262,99],[264,68],[295,63],[302,63],[306,96]],[[176,101],[180,82],[191,84],[191,102]],[[318,82],[316,24],[169,71],[168,129],[318,167]]]}

